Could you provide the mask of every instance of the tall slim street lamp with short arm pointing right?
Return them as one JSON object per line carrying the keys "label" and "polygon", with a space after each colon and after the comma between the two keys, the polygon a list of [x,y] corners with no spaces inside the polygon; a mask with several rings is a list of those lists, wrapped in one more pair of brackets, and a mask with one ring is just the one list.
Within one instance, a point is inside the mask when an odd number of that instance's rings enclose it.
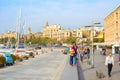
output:
{"label": "tall slim street lamp with short arm pointing right", "polygon": [[100,22],[92,23],[92,63],[91,68],[94,68],[94,27],[96,24],[100,24]]}

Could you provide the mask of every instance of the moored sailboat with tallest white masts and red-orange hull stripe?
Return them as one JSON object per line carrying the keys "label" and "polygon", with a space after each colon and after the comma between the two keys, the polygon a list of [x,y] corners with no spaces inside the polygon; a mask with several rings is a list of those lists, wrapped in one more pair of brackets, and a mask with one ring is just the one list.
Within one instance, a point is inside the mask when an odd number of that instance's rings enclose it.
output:
{"label": "moored sailboat with tallest white masts and red-orange hull stripe", "polygon": [[20,15],[17,18],[17,27],[16,27],[16,32],[17,32],[17,41],[16,41],[16,49],[15,49],[15,53],[14,54],[18,54],[19,56],[28,56],[28,54],[26,54],[26,47],[24,44],[24,27],[25,27],[25,21],[23,22],[21,21],[21,9],[20,9]]}

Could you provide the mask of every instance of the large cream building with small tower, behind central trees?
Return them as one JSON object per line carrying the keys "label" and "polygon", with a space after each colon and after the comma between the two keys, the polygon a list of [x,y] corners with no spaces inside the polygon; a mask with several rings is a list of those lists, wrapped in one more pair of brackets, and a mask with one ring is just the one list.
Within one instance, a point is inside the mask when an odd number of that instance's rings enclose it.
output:
{"label": "large cream building with small tower, behind central trees", "polygon": [[56,41],[65,40],[67,37],[71,36],[71,30],[61,29],[60,25],[50,25],[46,22],[43,29],[43,37],[49,37]]}

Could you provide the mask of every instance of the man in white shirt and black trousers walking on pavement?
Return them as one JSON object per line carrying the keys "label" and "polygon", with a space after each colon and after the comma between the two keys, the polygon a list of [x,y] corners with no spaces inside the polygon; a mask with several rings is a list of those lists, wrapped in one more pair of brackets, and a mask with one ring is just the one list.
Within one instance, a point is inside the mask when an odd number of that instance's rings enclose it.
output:
{"label": "man in white shirt and black trousers walking on pavement", "polygon": [[111,53],[106,57],[105,65],[108,68],[108,76],[111,77],[112,67],[114,66],[114,58]]}

